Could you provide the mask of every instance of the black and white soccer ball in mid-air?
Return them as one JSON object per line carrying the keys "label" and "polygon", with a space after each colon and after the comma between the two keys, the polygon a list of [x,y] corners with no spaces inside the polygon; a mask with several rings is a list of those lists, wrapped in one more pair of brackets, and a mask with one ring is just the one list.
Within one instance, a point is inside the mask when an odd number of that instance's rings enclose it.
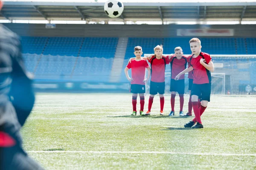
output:
{"label": "black and white soccer ball in mid-air", "polygon": [[118,0],[108,0],[105,2],[104,10],[108,17],[117,18],[122,14],[124,5]]}

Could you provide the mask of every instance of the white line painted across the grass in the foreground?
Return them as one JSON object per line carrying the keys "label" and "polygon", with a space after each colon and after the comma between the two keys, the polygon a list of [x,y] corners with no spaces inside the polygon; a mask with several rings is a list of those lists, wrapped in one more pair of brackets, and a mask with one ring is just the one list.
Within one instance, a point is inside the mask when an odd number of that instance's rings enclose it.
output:
{"label": "white line painted across the grass in the foreground", "polygon": [[208,155],[208,156],[256,156],[255,154],[235,153],[184,153],[184,152],[157,152],[157,151],[27,151],[27,153],[131,153],[131,154],[171,154],[171,155]]}

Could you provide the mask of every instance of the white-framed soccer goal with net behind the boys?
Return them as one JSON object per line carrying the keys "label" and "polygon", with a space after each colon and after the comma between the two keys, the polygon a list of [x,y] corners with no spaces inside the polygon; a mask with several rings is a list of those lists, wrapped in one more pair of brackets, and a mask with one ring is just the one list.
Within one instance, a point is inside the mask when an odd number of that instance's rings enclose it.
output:
{"label": "white-framed soccer goal with net behind the boys", "polygon": [[[150,54],[144,54],[147,57]],[[211,93],[215,95],[256,95],[256,55],[211,55],[215,71]],[[146,71],[147,74],[147,71]],[[171,95],[171,68],[166,65],[165,94]],[[188,93],[188,74],[185,74],[185,94]],[[149,94],[150,82],[146,85]]]}

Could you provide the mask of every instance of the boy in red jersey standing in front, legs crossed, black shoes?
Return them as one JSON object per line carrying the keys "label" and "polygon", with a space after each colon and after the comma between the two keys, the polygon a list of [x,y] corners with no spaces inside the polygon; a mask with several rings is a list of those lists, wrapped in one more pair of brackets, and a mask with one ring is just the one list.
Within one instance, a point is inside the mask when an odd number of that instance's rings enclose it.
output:
{"label": "boy in red jersey standing in front, legs crossed, black shoes", "polygon": [[[189,41],[192,57],[189,59],[189,68],[180,72],[175,80],[178,80],[182,74],[193,70],[193,84],[191,89],[192,107],[195,113],[195,118],[186,123],[184,127],[203,128],[201,115],[207,108],[211,95],[211,72],[214,71],[212,58],[209,54],[201,52],[201,41],[198,38],[192,38]],[[201,99],[201,106],[198,108],[198,98]]]}

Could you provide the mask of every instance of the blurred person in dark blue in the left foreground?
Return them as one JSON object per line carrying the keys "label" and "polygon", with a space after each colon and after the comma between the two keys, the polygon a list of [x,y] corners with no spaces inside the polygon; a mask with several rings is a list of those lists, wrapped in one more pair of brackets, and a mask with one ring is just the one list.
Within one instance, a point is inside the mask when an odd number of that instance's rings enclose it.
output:
{"label": "blurred person in dark blue in the left foreground", "polygon": [[0,170],[43,169],[23,150],[20,136],[34,102],[32,79],[25,71],[19,37],[0,24]]}

